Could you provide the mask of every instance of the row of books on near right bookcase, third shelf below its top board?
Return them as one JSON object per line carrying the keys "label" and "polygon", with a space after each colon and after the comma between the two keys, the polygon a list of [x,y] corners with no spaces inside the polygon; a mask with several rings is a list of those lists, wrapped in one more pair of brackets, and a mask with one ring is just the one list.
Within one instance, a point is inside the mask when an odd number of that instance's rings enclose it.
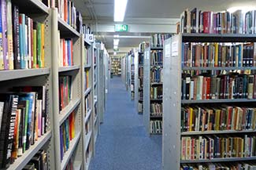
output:
{"label": "row of books on near right bookcase, third shelf below its top board", "polygon": [[181,107],[181,132],[253,130],[256,128],[254,107]]}

